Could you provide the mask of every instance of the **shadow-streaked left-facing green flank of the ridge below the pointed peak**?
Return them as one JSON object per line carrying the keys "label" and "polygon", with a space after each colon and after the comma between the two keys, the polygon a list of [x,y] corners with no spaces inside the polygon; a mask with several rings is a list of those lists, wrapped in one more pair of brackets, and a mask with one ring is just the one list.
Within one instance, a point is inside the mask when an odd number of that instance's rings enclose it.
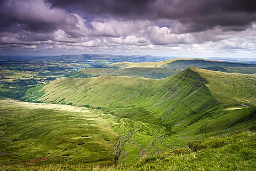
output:
{"label": "shadow-streaked left-facing green flank of the ridge below the pointed peak", "polygon": [[[170,122],[170,119],[168,119],[170,113],[177,117],[180,116],[180,108],[184,107],[186,101],[190,101],[190,97],[188,97],[190,94],[191,97],[196,97],[203,102],[196,106],[190,103],[193,106],[183,111],[183,117],[194,113],[193,109],[201,108],[201,105],[205,105],[204,102],[206,101],[211,104],[214,103],[204,84],[206,84],[205,79],[191,69],[187,69],[174,77],[161,80],[114,76],[60,79],[46,85],[41,90],[44,95],[39,97],[37,101],[72,103],[77,106],[89,104],[93,107],[102,107],[114,112],[119,111],[120,115],[125,117],[155,124],[157,122],[162,124],[163,121],[166,121],[167,124]],[[209,98],[201,98],[199,94],[202,93],[209,96]],[[28,94],[27,98],[29,100],[32,97],[34,100],[34,96],[34,93]],[[198,112],[200,112],[199,110]],[[175,121],[180,119],[172,117],[171,120],[174,124]]]}

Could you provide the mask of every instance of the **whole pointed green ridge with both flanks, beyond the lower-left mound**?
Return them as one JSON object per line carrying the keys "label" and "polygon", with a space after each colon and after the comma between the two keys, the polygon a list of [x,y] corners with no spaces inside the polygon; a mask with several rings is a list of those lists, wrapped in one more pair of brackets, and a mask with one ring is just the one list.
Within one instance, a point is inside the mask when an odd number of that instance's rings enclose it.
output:
{"label": "whole pointed green ridge with both flanks, beyond the lower-left mound", "polygon": [[188,68],[158,80],[115,76],[59,79],[39,93],[28,91],[24,98],[103,108],[116,116],[172,127],[180,135],[195,135],[220,132],[236,124],[244,128],[246,118],[255,119],[255,80],[256,75]]}

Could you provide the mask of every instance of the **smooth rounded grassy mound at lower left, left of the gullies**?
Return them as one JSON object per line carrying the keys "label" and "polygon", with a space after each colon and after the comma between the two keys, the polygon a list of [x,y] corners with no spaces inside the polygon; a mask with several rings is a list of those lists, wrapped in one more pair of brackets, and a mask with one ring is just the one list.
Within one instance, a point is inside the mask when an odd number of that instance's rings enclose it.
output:
{"label": "smooth rounded grassy mound at lower left, left of the gullies", "polygon": [[[112,162],[118,134],[111,118],[68,105],[0,102],[0,163]],[[111,123],[113,126],[117,123]],[[79,145],[80,144],[80,145]],[[49,158],[49,159],[48,159]]]}

